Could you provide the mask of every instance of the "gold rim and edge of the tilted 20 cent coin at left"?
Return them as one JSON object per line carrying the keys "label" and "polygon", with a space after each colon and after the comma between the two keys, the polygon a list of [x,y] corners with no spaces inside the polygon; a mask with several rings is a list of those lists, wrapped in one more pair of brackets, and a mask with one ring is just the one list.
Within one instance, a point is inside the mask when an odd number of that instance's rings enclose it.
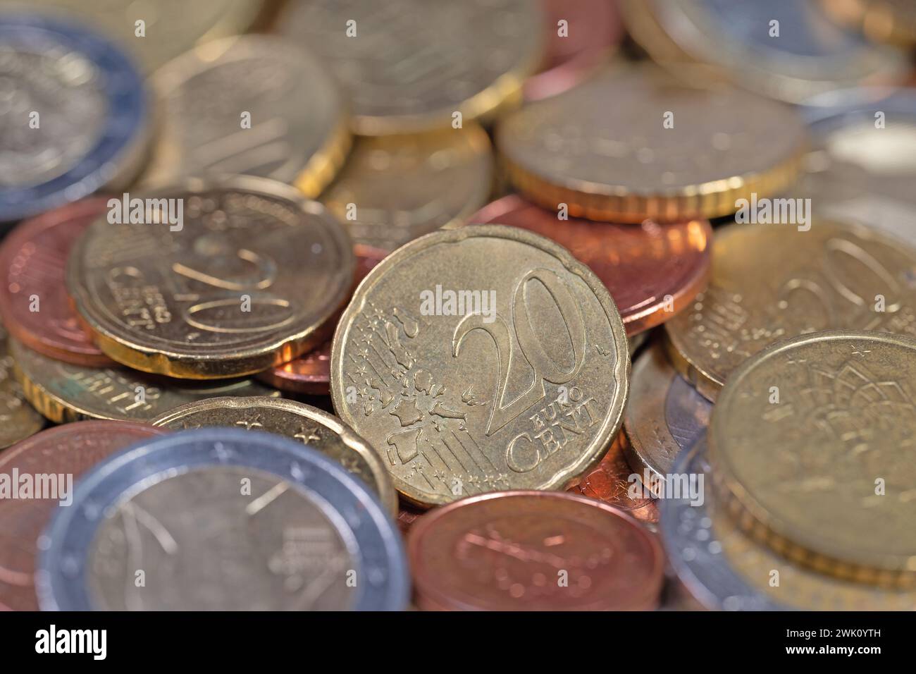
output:
{"label": "gold rim and edge of the tilted 20 cent coin at left", "polygon": [[[82,279],[82,274],[85,272],[82,260],[91,238],[104,237],[104,228],[114,227],[108,225],[104,219],[100,219],[87,228],[71,249],[67,264],[67,288],[82,318],[82,323],[93,334],[93,340],[109,358],[134,370],[164,374],[170,377],[232,378],[254,374],[288,362],[320,345],[330,335],[332,326],[329,325],[329,322],[346,301],[355,273],[356,260],[353,244],[344,227],[322,204],[306,198],[294,187],[254,176],[188,178],[179,185],[158,189],[155,193],[146,193],[137,198],[147,198],[151,194],[153,198],[164,197],[168,194],[193,196],[195,193],[208,191],[237,191],[265,196],[268,199],[283,200],[289,203],[290,208],[295,208],[300,215],[321,222],[323,235],[330,240],[336,253],[341,256],[333,271],[331,289],[326,296],[321,298],[322,304],[313,309],[313,315],[308,316],[310,319],[308,325],[301,325],[305,321],[300,318],[297,321],[299,326],[293,326],[289,331],[284,329],[274,334],[262,335],[258,338],[256,345],[241,349],[215,348],[209,353],[204,352],[199,345],[199,348],[191,348],[192,344],[183,350],[172,346],[158,348],[155,342],[145,343],[143,341],[141,330],[128,328],[115,321],[112,317],[114,312],[93,301],[92,293]],[[184,227],[182,231],[187,231],[186,226],[187,223],[182,226]],[[168,225],[139,225],[138,227],[168,229]],[[252,235],[255,234],[253,231]],[[238,251],[238,254],[239,257],[243,257],[241,251]],[[174,273],[171,271],[171,265],[169,273]],[[200,276],[206,275],[200,274]],[[217,285],[217,288],[220,287],[226,287],[225,283],[223,286]],[[256,289],[260,289],[260,286]],[[245,290],[239,291],[239,293],[244,292]],[[198,297],[196,301],[201,304],[201,298]],[[282,300],[282,302],[289,304],[287,300]]]}

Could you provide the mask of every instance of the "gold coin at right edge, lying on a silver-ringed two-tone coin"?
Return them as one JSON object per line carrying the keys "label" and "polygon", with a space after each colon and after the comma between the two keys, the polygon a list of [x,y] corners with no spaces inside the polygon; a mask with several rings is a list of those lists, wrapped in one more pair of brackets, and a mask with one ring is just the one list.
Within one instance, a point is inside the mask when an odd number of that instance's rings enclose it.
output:
{"label": "gold coin at right edge, lying on a silver-ringed two-tone coin", "polygon": [[751,535],[821,573],[916,587],[916,339],[781,341],[713,410],[716,493]]}

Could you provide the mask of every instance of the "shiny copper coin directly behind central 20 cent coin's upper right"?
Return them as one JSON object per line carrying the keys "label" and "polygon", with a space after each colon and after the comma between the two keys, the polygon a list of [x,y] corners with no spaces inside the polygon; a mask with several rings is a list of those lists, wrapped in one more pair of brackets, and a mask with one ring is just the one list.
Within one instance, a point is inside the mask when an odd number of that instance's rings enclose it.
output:
{"label": "shiny copper coin directly behind central 20 cent coin's upper right", "polygon": [[511,194],[488,204],[471,222],[522,227],[551,238],[589,266],[607,286],[627,335],[658,326],[692,302],[710,275],[713,230],[707,220],[638,227],[560,220],[556,213]]}

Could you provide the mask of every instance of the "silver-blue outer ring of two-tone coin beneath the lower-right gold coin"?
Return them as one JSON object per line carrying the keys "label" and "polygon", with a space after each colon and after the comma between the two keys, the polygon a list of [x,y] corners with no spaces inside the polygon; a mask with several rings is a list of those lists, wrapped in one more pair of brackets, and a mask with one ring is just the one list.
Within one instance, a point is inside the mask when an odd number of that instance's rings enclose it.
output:
{"label": "silver-blue outer ring of two-tone coin beneath the lower-right gold coin", "polygon": [[[786,607],[754,590],[732,569],[716,538],[706,500],[712,475],[706,460],[706,436],[675,461],[677,475],[703,475],[703,503],[689,497],[660,499],[660,529],[669,562],[692,598],[713,611],[781,611]],[[696,482],[699,484],[699,480]],[[699,501],[699,499],[697,499]]]}

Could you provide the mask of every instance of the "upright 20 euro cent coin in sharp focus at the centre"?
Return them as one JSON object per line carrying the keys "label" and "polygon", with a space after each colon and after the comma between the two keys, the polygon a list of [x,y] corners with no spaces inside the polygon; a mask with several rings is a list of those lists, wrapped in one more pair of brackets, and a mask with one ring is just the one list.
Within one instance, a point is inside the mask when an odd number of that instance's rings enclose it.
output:
{"label": "upright 20 euro cent coin in sharp focus at the centre", "polygon": [[568,486],[619,429],[628,373],[594,273],[499,225],[440,230],[380,262],[331,355],[334,408],[421,505]]}

